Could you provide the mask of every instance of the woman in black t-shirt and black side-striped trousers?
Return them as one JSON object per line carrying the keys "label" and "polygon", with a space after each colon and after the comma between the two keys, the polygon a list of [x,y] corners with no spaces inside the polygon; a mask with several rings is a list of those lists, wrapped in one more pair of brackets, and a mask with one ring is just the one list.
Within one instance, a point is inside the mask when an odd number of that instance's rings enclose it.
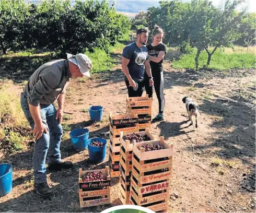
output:
{"label": "woman in black t-shirt and black side-striped trousers", "polygon": [[[153,122],[164,121],[165,97],[164,97],[164,76],[162,72],[162,61],[166,54],[166,45],[162,43],[164,31],[155,25],[153,30],[153,41],[147,45],[148,58],[150,60],[154,87],[158,99],[159,113],[152,120]],[[148,97],[152,97],[153,89],[149,87],[148,77],[145,75],[145,89]]]}

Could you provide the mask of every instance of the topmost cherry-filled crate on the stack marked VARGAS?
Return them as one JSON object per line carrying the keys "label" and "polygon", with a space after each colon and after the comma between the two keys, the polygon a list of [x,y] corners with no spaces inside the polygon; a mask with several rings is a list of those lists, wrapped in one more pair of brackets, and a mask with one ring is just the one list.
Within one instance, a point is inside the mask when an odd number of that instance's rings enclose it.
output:
{"label": "topmost cherry-filled crate on the stack marked VARGAS", "polygon": [[[141,148],[141,150],[139,150],[137,148],[138,146],[142,146],[142,145],[146,145],[146,144],[160,145],[160,146],[164,147],[165,149],[145,152],[144,148]],[[140,161],[171,157],[173,155],[173,144],[171,144],[171,145],[167,144],[164,140],[164,137],[160,137],[159,140],[145,141],[145,142],[138,143],[138,144],[134,143],[133,153],[134,153],[134,155],[137,156],[137,158]]]}

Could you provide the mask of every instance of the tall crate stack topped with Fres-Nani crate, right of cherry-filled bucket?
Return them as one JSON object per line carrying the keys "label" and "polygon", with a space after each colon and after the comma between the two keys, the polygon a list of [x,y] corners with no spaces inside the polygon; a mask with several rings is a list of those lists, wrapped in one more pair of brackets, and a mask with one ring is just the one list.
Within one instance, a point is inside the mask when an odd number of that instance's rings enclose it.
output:
{"label": "tall crate stack topped with Fres-Nani crate, right of cherry-filled bucket", "polygon": [[123,133],[138,132],[138,116],[131,112],[128,114],[109,114],[109,167],[111,178],[120,176],[120,135]]}

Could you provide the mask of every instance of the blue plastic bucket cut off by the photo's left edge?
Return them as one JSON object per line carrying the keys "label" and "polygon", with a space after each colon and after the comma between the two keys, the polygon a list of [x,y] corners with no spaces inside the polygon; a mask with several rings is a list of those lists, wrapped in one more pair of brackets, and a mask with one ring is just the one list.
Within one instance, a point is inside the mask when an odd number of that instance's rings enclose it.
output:
{"label": "blue plastic bucket cut off by the photo's left edge", "polygon": [[0,197],[13,189],[13,166],[7,163],[0,164]]}

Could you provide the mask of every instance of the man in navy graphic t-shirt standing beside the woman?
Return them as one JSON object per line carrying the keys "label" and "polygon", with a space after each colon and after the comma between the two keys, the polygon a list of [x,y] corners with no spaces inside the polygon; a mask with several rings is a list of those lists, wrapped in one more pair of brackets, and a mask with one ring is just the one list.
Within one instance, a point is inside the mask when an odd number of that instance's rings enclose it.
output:
{"label": "man in navy graphic t-shirt standing beside the woman", "polygon": [[[125,46],[122,54],[122,69],[129,97],[141,97],[144,88],[144,73],[149,78],[149,85],[153,86],[153,78],[148,60],[146,45],[148,29],[137,30],[137,41]],[[145,66],[145,69],[144,69]]]}

